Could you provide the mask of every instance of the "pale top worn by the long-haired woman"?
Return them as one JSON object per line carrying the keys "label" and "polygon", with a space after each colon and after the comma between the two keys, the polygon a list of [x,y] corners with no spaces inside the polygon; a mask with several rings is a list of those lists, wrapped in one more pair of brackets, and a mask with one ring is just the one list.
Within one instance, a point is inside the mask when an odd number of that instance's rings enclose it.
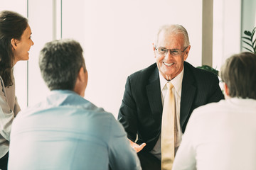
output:
{"label": "pale top worn by the long-haired woman", "polygon": [[0,158],[9,151],[11,123],[21,108],[15,96],[14,84],[5,88],[4,81],[0,77]]}

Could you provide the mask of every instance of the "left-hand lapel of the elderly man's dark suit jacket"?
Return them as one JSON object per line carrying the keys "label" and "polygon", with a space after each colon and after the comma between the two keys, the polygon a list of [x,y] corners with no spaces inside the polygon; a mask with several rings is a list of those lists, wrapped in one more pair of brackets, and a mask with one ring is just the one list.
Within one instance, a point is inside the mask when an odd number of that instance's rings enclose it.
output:
{"label": "left-hand lapel of the elderly man's dark suit jacket", "polygon": [[149,77],[149,84],[146,86],[146,94],[148,96],[151,113],[153,115],[161,115],[163,106],[161,104],[161,89],[157,67]]}

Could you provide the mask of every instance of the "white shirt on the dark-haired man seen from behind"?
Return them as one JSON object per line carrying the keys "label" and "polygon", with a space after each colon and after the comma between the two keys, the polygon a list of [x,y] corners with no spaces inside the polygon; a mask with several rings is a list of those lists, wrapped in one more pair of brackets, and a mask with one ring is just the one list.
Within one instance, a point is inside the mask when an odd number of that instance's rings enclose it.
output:
{"label": "white shirt on the dark-haired man seen from behind", "polygon": [[230,98],[193,111],[173,170],[256,169],[256,100]]}

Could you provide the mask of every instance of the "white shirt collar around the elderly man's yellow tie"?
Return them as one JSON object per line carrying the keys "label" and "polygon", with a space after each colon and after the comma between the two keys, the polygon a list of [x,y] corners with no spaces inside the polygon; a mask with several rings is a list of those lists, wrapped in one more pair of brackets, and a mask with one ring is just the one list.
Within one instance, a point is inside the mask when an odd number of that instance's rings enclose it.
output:
{"label": "white shirt collar around the elderly man's yellow tie", "polygon": [[[171,84],[174,85],[174,89],[178,93],[179,96],[181,96],[181,86],[182,86],[183,74],[184,74],[184,67],[183,67],[182,71],[178,74],[178,76],[174,77],[174,79],[171,80]],[[161,87],[161,91],[162,91],[168,81],[166,79],[164,79],[161,72],[159,72],[159,80],[160,80],[160,87]]]}

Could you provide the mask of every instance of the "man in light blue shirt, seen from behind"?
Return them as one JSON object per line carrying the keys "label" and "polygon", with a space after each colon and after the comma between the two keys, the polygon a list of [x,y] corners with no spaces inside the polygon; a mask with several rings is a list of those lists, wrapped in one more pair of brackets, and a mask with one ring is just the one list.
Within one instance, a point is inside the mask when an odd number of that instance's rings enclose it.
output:
{"label": "man in light blue shirt, seen from behind", "polygon": [[50,95],[14,120],[9,169],[141,169],[122,125],[82,98],[88,74],[80,44],[46,43],[39,66]]}

